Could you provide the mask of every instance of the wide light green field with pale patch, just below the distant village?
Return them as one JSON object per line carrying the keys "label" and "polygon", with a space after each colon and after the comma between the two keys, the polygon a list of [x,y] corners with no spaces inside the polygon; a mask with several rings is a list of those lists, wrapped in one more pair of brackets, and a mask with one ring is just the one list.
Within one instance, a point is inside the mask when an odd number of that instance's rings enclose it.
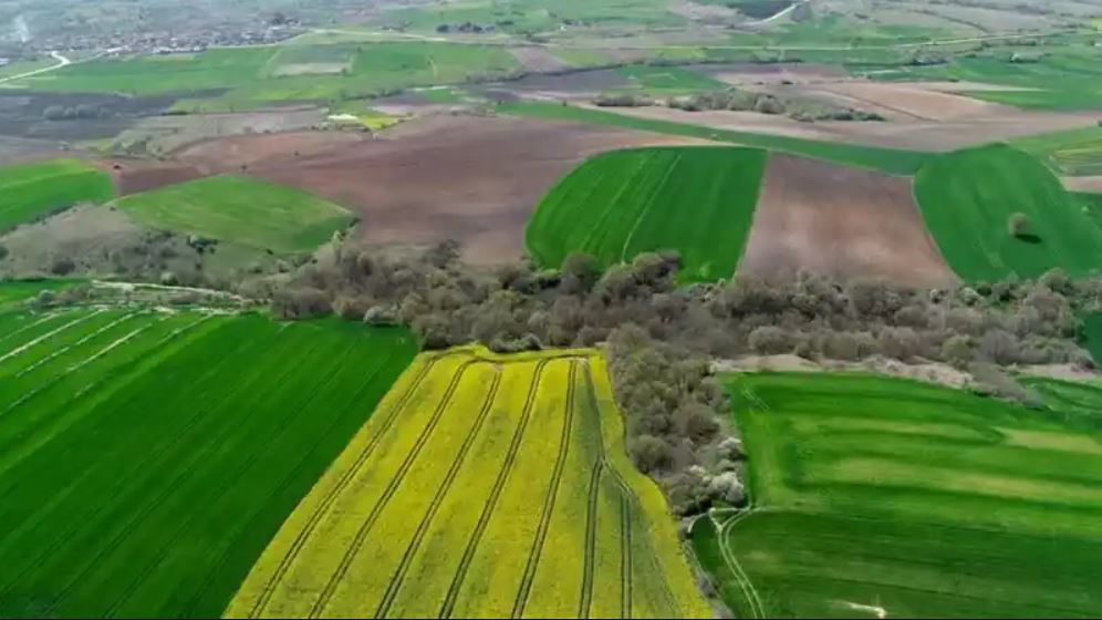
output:
{"label": "wide light green field with pale patch, just below the distant village", "polygon": [[102,59],[19,80],[14,85],[62,92],[189,94],[177,111],[247,110],[280,101],[330,101],[410,86],[505,76],[520,70],[506,49],[438,42],[262,45],[197,54]]}

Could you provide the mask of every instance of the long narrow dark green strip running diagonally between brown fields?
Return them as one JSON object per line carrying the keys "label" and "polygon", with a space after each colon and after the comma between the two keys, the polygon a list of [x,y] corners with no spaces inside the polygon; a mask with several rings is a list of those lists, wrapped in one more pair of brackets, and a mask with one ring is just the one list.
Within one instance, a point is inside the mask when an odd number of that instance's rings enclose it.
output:
{"label": "long narrow dark green strip running diagonally between brown fields", "polygon": [[576,121],[757,146],[898,175],[914,174],[925,162],[934,157],[933,154],[919,153],[917,151],[898,151],[750,132],[715,130],[700,125],[634,118],[614,112],[586,110],[551,103],[510,103],[501,105],[499,110],[509,114],[539,118]]}

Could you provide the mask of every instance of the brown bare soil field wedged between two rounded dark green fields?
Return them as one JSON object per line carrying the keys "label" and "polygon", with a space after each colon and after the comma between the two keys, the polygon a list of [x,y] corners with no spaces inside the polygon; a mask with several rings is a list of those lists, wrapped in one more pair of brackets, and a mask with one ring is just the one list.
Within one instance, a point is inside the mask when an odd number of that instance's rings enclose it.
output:
{"label": "brown bare soil field wedged between two rounded dark green fields", "polygon": [[739,272],[769,279],[801,269],[919,287],[956,279],[909,179],[772,154]]}

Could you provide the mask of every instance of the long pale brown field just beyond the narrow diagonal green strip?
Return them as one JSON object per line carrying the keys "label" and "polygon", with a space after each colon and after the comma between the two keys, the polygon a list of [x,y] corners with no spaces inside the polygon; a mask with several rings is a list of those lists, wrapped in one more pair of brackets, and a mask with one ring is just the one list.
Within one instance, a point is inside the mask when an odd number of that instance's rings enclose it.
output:
{"label": "long pale brown field just beyond the narrow diagonal green strip", "polygon": [[641,118],[674,121],[717,130],[937,152],[1026,135],[1090,127],[1098,122],[1098,114],[1094,113],[1026,112],[1013,108],[986,117],[944,122],[900,120],[884,123],[846,121],[801,123],[787,116],[753,112],[684,112],[659,106],[621,107],[615,112]]}

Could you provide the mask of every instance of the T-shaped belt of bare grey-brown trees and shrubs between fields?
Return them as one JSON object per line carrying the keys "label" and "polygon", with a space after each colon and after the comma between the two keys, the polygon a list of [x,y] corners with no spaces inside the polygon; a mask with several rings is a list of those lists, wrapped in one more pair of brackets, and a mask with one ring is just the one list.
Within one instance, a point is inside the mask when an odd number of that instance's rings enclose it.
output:
{"label": "T-shaped belt of bare grey-brown trees and shrubs between fields", "polygon": [[[378,250],[336,238],[332,259],[238,292],[277,316],[339,313],[410,326],[428,349],[481,342],[497,351],[604,344],[628,451],[680,514],[737,503],[741,465],[710,360],[792,353],[812,360],[939,361],[981,374],[1010,364],[1092,365],[1078,316],[1102,301],[1102,279],[1052,271],[1036,281],[922,290],[798,273],[783,281],[679,287],[679,257],[649,252],[601,269],[570,256],[560,269],[520,261],[465,265],[459,246]],[[1012,380],[984,374],[1000,397],[1029,402]],[[1007,383],[1009,381],[1009,383]]]}

